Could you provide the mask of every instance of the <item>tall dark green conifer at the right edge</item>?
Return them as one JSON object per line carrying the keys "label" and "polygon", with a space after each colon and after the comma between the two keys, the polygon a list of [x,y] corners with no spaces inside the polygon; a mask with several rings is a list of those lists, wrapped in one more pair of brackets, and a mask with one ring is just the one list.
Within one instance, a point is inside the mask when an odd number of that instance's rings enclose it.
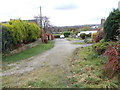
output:
{"label": "tall dark green conifer at the right edge", "polygon": [[114,9],[107,17],[104,23],[105,41],[116,40],[116,36],[120,34],[117,30],[120,27],[120,11]]}

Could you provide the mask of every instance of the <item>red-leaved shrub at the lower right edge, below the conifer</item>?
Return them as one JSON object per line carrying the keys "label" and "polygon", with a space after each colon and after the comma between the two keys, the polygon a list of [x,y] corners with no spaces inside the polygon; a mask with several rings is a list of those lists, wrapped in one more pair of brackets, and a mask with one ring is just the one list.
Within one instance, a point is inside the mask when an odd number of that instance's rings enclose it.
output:
{"label": "red-leaved shrub at the lower right edge, below the conifer", "polygon": [[106,76],[109,78],[112,78],[113,75],[120,69],[119,67],[120,53],[117,51],[119,47],[120,47],[120,43],[118,43],[114,47],[108,46],[104,53],[104,55],[107,56],[107,62],[104,65],[104,71]]}

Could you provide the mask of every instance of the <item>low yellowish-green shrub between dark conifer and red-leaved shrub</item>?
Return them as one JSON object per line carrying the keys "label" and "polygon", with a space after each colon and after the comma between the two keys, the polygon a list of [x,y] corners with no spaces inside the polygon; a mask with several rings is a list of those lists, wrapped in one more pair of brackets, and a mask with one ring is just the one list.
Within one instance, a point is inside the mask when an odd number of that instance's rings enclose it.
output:
{"label": "low yellowish-green shrub between dark conifer and red-leaved shrub", "polygon": [[113,43],[113,42],[105,42],[103,39],[100,41],[100,42],[98,42],[98,43],[94,43],[93,45],[92,45],[92,47],[93,47],[93,50],[97,53],[97,54],[103,54],[104,52],[105,52],[105,50],[106,50],[106,47],[108,46],[108,45],[114,45],[115,43]]}

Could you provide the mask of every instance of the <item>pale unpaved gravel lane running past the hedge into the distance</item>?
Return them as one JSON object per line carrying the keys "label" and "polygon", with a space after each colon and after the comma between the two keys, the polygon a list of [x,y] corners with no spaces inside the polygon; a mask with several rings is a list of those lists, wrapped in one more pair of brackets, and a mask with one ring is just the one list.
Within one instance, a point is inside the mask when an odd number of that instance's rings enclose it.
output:
{"label": "pale unpaved gravel lane running past the hedge into the distance", "polygon": [[51,68],[60,66],[63,69],[67,69],[69,68],[69,65],[67,65],[66,62],[72,55],[73,51],[77,47],[84,47],[88,45],[90,44],[73,45],[66,39],[56,39],[54,48],[26,60],[21,60],[7,65],[7,67],[10,67],[10,69],[3,71],[1,75],[16,76],[19,74],[31,72],[36,68],[44,66],[49,66]]}

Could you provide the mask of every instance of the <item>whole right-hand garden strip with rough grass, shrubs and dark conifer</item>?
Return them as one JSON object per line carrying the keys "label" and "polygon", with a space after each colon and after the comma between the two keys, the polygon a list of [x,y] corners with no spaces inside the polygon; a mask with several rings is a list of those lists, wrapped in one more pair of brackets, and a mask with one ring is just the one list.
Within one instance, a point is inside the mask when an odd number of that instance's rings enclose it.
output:
{"label": "whole right-hand garden strip with rough grass, shrubs and dark conifer", "polygon": [[77,49],[71,59],[73,73],[68,86],[73,88],[119,88],[120,11],[114,9],[104,29],[92,34],[93,45]]}

